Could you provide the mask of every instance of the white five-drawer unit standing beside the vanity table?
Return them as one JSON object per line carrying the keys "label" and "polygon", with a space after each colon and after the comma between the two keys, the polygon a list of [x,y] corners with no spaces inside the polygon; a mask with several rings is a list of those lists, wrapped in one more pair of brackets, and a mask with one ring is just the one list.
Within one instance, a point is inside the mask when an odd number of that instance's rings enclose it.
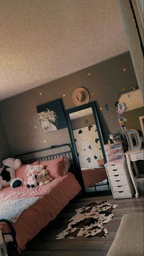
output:
{"label": "white five-drawer unit standing beside the vanity table", "polygon": [[107,176],[113,198],[128,198],[134,194],[134,186],[129,175],[126,160],[112,164],[107,162],[105,165]]}

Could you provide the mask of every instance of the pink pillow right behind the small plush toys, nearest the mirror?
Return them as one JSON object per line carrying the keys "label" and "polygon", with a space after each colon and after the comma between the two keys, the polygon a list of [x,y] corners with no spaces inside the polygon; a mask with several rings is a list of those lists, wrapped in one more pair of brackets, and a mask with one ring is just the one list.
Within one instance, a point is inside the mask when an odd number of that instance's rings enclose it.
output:
{"label": "pink pillow right behind the small plush toys, nearest the mirror", "polygon": [[64,159],[65,157],[63,156],[52,160],[41,161],[40,164],[44,165],[49,171],[49,175],[55,179],[63,176]]}

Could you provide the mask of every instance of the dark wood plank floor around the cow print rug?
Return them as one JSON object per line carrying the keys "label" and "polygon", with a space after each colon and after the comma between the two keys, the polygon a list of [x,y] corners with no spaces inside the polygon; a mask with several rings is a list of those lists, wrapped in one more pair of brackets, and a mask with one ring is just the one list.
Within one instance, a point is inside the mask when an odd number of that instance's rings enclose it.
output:
{"label": "dark wood plank floor around the cow print rug", "polygon": [[[67,228],[68,219],[74,216],[75,209],[86,206],[92,201],[98,203],[103,200],[118,205],[116,209],[113,209],[112,221],[106,225],[109,232],[106,238],[56,239],[56,235]],[[26,250],[21,253],[21,256],[106,256],[123,214],[138,212],[143,212],[143,196],[117,200],[114,200],[112,195],[74,198],[56,220],[27,244]],[[14,254],[10,252],[9,255]]]}

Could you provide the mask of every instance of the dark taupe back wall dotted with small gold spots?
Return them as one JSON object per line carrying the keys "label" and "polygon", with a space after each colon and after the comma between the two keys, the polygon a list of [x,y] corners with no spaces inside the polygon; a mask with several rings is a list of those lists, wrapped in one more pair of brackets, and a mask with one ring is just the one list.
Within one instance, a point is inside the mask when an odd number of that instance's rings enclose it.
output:
{"label": "dark taupe back wall dotted with small gold spots", "polygon": [[[1,116],[12,154],[70,141],[67,128],[44,134],[36,106],[61,98],[65,110],[73,108],[71,96],[78,87],[88,90],[90,102],[96,101],[104,143],[107,143],[109,134],[121,131],[114,104],[118,92],[134,85],[137,80],[127,52],[3,100],[0,102]],[[108,110],[104,107],[106,104]]]}

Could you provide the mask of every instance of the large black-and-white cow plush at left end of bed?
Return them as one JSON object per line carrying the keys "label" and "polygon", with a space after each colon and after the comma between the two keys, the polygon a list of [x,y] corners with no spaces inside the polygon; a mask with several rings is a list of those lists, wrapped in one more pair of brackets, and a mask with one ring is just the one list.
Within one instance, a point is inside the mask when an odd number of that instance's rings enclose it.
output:
{"label": "large black-and-white cow plush at left end of bed", "polygon": [[15,178],[15,170],[21,166],[21,160],[7,158],[2,160],[3,167],[0,168],[0,189],[5,186],[19,187],[23,184],[23,179]]}

